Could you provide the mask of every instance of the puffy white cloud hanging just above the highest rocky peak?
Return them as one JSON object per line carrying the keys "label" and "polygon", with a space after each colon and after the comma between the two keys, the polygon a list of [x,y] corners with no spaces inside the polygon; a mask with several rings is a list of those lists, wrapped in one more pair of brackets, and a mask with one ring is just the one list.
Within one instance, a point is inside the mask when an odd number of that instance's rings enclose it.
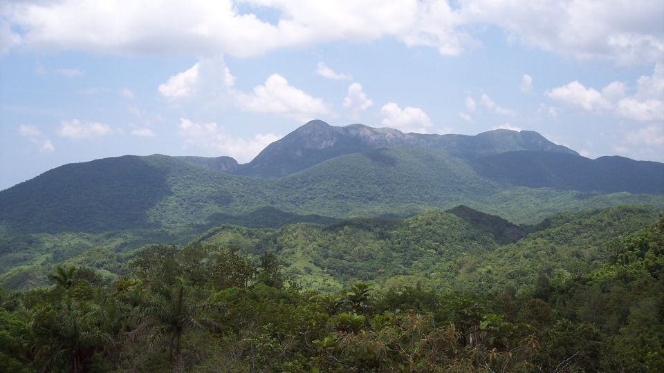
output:
{"label": "puffy white cloud hanging just above the highest rocky peak", "polygon": [[270,75],[265,84],[255,86],[250,94],[237,92],[236,100],[239,108],[244,111],[281,114],[299,122],[330,113],[322,99],[291,86],[279,74]]}

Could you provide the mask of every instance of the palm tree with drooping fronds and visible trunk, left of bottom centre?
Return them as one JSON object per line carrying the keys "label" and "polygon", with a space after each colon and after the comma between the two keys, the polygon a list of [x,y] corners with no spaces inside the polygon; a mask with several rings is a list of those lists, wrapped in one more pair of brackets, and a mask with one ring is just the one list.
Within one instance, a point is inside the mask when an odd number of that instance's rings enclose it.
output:
{"label": "palm tree with drooping fronds and visible trunk, left of bottom centre", "polygon": [[218,325],[205,311],[214,309],[209,303],[196,303],[188,296],[187,278],[177,276],[175,285],[162,285],[151,291],[151,294],[136,309],[137,325],[130,338],[147,337],[150,345],[156,341],[169,341],[169,355],[175,352],[177,372],[183,372],[182,356],[183,334],[189,329]]}

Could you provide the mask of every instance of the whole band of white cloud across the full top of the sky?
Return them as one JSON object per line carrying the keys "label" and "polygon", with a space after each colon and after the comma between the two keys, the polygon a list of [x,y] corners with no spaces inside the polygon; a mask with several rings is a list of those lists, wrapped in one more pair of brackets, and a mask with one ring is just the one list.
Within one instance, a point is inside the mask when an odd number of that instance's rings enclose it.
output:
{"label": "whole band of white cloud across the full top of the sky", "polygon": [[[276,19],[261,19],[261,14]],[[477,44],[466,32],[489,24],[507,30],[510,39],[560,55],[633,64],[664,55],[661,14],[661,4],[652,0],[609,5],[588,0],[337,0],[324,5],[309,0],[33,0],[3,7],[0,45],[5,50],[249,57],[279,48],[394,37],[407,46],[458,55],[464,46]]]}

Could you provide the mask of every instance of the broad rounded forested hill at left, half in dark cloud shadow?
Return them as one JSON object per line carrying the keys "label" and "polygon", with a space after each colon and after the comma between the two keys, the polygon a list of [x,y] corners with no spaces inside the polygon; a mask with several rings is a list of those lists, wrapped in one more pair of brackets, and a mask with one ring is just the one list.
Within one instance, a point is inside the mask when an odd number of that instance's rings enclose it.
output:
{"label": "broad rounded forested hill at left, half in dark cloud shadow", "polygon": [[0,222],[15,231],[101,232],[205,222],[212,213],[267,205],[261,180],[176,157],[105,158],[57,167],[0,193]]}

